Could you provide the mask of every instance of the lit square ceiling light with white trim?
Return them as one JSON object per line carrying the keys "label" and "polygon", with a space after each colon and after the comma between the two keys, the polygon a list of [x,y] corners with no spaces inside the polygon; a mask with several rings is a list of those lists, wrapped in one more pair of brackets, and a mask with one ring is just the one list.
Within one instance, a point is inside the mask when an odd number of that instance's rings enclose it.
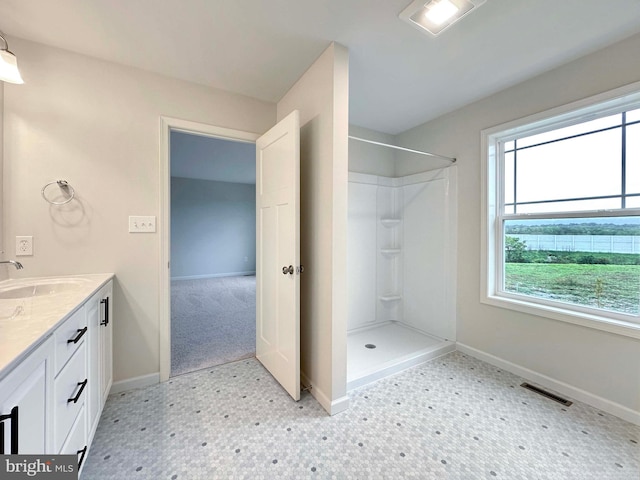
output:
{"label": "lit square ceiling light with white trim", "polygon": [[486,0],[415,0],[399,17],[410,25],[439,35]]}

